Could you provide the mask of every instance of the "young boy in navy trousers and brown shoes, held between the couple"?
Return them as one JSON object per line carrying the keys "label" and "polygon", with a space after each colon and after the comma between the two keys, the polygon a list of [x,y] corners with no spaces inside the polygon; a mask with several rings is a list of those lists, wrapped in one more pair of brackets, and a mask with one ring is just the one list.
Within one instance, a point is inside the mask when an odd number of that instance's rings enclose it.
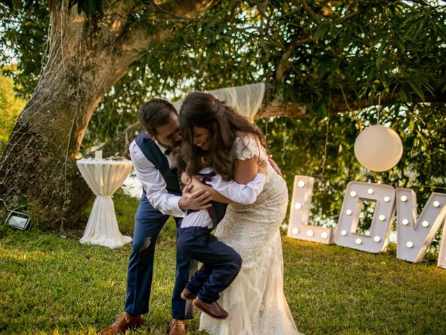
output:
{"label": "young boy in navy trousers and brown shoes, held between the couple", "polygon": [[[177,161],[181,161],[178,158]],[[177,164],[179,170],[183,165]],[[248,184],[237,184],[235,181],[224,181],[211,168],[200,171],[201,182],[214,188],[215,191],[239,204],[252,204],[263,191],[266,167],[259,165],[259,172]],[[183,174],[184,176],[185,174]],[[183,178],[183,182],[187,180]],[[227,288],[236,278],[242,265],[240,255],[230,246],[220,242],[210,232],[224,216],[226,204],[212,202],[209,209],[188,211],[177,231],[176,243],[178,251],[203,263],[190,281],[186,284],[181,297],[194,300],[194,305],[213,318],[224,319],[228,313],[217,304],[219,293]]]}

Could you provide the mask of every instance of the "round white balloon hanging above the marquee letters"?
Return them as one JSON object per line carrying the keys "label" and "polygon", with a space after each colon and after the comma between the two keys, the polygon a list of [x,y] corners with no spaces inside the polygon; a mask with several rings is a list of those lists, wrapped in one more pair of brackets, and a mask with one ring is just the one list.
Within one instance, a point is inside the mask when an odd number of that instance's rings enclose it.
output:
{"label": "round white balloon hanging above the marquee letters", "polygon": [[403,155],[403,142],[389,127],[376,124],[356,137],[355,156],[364,168],[383,172],[393,168]]}

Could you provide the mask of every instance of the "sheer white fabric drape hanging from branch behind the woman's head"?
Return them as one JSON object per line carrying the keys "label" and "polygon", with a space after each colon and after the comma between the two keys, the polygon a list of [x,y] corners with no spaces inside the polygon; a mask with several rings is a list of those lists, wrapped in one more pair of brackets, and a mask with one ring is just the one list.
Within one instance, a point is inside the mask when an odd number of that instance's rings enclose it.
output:
{"label": "sheer white fabric drape hanging from branch behind the woman's head", "polygon": [[[208,93],[217,96],[220,101],[226,101],[226,105],[233,107],[239,114],[254,121],[259,108],[265,96],[265,84],[249,84],[238,87],[226,87],[224,89],[215,89]],[[176,101],[174,106],[180,111],[183,100]]]}

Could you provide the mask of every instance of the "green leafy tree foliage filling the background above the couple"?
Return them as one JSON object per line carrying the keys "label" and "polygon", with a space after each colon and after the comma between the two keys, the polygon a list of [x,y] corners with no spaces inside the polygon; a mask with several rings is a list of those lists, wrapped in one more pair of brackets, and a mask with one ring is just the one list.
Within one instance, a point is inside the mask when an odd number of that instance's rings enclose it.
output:
{"label": "green leafy tree foliage filling the background above the couple", "polygon": [[[145,99],[266,82],[266,104],[279,97],[307,110],[299,119],[271,116],[258,125],[289,185],[294,174],[318,177],[314,214],[323,223],[337,217],[349,180],[413,187],[419,209],[431,191],[445,192],[446,11],[440,1],[220,1],[194,19],[162,20],[150,8],[169,1],[124,2],[136,8],[127,29],[142,23],[170,37],[135,52],[128,74],[93,114],[84,148],[137,121]],[[68,6],[93,20],[114,3]],[[13,50],[18,71],[6,74],[25,97],[45,63],[49,24],[49,3],[31,4],[0,4],[0,61],[10,62],[5,50]],[[353,143],[376,123],[378,100],[381,123],[399,133],[405,150],[396,168],[373,174],[355,161]]]}

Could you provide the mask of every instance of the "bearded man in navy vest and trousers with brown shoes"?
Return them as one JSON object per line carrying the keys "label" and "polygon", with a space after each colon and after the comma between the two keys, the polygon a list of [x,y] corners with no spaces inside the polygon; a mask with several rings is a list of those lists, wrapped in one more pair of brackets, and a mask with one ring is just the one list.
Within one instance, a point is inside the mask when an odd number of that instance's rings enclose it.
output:
{"label": "bearded man in navy vest and trousers with brown shoes", "polygon": [[[212,200],[208,191],[190,193],[191,186],[186,186],[182,195],[176,171],[170,168],[170,152],[181,142],[175,107],[168,101],[155,98],[141,107],[139,121],[144,132],[130,144],[130,156],[137,178],[143,185],[143,193],[134,223],[125,308],[124,313],[100,334],[118,334],[141,325],[143,315],[148,313],[155,242],[161,228],[169,216],[174,216],[178,228],[187,209],[206,209]],[[181,299],[180,295],[190,274],[196,270],[197,263],[177,250],[173,320],[169,335],[187,332],[185,320],[192,319],[192,304]]]}

